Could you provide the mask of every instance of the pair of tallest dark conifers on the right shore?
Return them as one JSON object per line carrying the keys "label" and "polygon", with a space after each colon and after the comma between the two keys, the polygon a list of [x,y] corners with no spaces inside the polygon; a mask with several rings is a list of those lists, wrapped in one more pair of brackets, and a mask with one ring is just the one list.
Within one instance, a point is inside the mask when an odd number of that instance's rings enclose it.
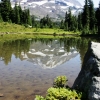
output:
{"label": "pair of tallest dark conifers on the right shore", "polygon": [[96,17],[92,0],[85,0],[83,13],[79,14],[78,20],[79,30],[82,30],[82,35],[96,34]]}

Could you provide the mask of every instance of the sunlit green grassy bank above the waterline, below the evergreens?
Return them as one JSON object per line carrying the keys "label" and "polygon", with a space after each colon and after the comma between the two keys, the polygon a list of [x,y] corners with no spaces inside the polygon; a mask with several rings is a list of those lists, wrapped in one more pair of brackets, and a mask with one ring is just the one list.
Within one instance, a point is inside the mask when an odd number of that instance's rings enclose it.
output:
{"label": "sunlit green grassy bank above the waterline, below the evergreens", "polygon": [[17,25],[13,23],[1,22],[0,23],[0,33],[32,33],[32,34],[80,34],[80,32],[69,32],[62,29],[50,29],[50,28],[26,28],[22,25]]}

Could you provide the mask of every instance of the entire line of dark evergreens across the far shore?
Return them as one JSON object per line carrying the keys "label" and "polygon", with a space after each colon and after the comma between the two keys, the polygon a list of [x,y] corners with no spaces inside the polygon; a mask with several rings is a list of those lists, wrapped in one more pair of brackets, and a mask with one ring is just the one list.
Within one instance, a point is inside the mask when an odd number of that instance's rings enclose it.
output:
{"label": "entire line of dark evergreens across the far shore", "polygon": [[81,31],[82,35],[100,34],[100,4],[95,9],[92,0],[85,0],[83,11],[78,16],[73,15],[69,8],[61,22],[53,22],[48,15],[36,21],[35,16],[30,15],[29,9],[22,10],[20,4],[17,3],[12,8],[10,0],[1,0],[0,20],[36,28],[57,27],[66,31]]}

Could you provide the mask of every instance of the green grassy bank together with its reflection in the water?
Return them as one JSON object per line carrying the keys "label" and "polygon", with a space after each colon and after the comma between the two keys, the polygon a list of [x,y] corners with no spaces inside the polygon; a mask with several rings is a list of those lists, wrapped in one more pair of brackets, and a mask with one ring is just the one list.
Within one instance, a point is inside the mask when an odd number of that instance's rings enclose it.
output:
{"label": "green grassy bank together with its reflection in the water", "polygon": [[75,35],[79,35],[79,32],[68,32],[62,29],[49,28],[26,28],[22,25],[17,25],[8,22],[0,22],[0,34],[0,42],[2,43],[5,41],[14,41],[17,39],[63,38],[66,37],[66,35],[67,37],[75,37]]}

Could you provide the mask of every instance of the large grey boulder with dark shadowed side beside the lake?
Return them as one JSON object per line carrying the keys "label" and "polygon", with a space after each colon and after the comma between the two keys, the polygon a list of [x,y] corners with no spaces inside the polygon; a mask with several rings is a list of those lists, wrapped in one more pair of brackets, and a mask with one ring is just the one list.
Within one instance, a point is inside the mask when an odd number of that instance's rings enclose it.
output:
{"label": "large grey boulder with dark shadowed side beside the lake", "polygon": [[89,100],[100,100],[100,43],[89,43],[73,88],[85,92]]}

